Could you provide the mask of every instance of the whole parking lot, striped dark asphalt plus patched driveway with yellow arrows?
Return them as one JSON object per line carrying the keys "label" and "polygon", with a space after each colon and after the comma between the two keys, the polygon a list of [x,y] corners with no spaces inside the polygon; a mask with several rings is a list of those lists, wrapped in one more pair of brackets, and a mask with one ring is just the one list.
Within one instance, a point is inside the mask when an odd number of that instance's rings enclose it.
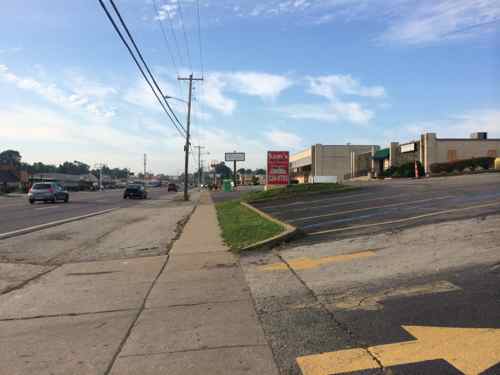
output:
{"label": "whole parking lot, striped dark asphalt plus patched driveway with yellow arrows", "polygon": [[283,375],[500,374],[500,175],[258,205],[301,227],[241,264]]}

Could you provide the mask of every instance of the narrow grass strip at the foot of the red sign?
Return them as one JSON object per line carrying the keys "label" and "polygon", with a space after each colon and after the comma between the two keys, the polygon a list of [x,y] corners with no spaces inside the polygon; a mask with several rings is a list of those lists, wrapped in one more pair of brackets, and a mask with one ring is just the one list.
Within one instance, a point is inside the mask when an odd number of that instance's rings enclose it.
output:
{"label": "narrow grass strip at the foot of the red sign", "polygon": [[331,193],[356,190],[357,187],[342,184],[298,184],[288,185],[282,188],[275,188],[265,191],[254,191],[243,195],[242,200],[248,203],[261,202],[275,199],[292,198],[301,195],[316,193]]}

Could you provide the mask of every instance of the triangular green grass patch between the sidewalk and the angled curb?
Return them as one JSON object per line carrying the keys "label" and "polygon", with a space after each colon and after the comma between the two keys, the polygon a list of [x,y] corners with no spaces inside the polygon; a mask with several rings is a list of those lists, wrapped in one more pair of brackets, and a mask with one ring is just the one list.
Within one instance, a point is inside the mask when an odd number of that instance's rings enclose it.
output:
{"label": "triangular green grass patch between the sidewalk and the angled curb", "polygon": [[238,251],[282,233],[285,228],[242,206],[239,200],[215,205],[226,244]]}

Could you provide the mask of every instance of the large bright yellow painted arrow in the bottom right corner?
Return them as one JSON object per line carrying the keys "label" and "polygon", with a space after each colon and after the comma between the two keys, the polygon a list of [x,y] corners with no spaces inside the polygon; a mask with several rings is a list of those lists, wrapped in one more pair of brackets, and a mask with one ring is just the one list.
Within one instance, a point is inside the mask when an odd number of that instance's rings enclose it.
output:
{"label": "large bright yellow painted arrow in the bottom right corner", "polygon": [[303,375],[334,375],[441,359],[478,375],[500,362],[500,329],[402,327],[416,340],[299,357],[297,364]]}

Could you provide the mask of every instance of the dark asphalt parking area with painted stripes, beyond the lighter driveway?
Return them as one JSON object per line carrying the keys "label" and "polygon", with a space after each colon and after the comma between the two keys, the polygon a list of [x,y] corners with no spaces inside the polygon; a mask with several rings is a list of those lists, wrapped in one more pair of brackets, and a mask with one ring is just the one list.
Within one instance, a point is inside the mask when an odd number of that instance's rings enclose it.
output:
{"label": "dark asphalt parking area with painted stripes, beyond the lighter driveway", "polygon": [[256,206],[320,242],[500,213],[500,174],[353,184],[359,190]]}

